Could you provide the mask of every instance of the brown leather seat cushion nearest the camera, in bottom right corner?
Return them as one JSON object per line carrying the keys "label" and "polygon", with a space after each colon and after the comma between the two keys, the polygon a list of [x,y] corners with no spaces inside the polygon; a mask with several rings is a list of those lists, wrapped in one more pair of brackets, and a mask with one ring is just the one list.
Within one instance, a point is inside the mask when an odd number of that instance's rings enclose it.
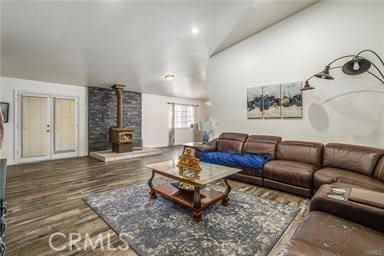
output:
{"label": "brown leather seat cushion nearest the camera, in bottom right corner", "polygon": [[300,224],[293,239],[341,255],[368,255],[384,251],[381,232],[334,215],[312,211]]}

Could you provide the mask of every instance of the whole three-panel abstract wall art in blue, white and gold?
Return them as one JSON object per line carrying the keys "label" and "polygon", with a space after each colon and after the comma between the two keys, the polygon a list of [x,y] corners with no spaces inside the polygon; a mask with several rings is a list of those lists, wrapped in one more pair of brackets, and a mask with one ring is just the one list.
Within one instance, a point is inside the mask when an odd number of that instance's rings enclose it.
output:
{"label": "whole three-panel abstract wall art in blue, white and gold", "polygon": [[302,82],[289,82],[247,89],[247,117],[302,118]]}

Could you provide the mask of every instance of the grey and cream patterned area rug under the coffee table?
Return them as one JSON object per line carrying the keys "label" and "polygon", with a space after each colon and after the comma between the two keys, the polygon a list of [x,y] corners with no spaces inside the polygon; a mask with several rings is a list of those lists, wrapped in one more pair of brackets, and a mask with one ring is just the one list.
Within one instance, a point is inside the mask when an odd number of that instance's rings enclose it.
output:
{"label": "grey and cream patterned area rug under the coffee table", "polygon": [[232,191],[229,206],[217,203],[195,223],[191,210],[160,196],[152,200],[148,191],[136,184],[84,199],[143,256],[267,255],[298,213],[294,206]]}

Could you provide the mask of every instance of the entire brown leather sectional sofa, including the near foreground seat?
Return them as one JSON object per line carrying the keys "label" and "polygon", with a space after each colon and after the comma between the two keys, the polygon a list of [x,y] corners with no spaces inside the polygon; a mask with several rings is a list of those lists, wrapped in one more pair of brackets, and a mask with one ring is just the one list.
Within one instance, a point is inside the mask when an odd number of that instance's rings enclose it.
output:
{"label": "entire brown leather sectional sofa, including the near foreground seat", "polygon": [[269,154],[273,160],[263,169],[243,169],[231,178],[313,196],[310,213],[279,255],[384,255],[384,208],[328,197],[334,187],[364,188],[382,192],[384,205],[383,149],[223,133],[196,147],[197,155],[203,151]]}

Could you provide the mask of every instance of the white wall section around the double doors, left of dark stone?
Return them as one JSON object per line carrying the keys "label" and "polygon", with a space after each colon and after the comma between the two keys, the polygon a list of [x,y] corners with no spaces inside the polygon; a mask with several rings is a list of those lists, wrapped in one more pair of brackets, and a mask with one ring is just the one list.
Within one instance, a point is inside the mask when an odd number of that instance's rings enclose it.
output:
{"label": "white wall section around the double doors, left of dark stone", "polygon": [[80,126],[79,154],[88,154],[88,94],[86,87],[0,77],[0,101],[9,102],[9,122],[5,124],[5,144],[3,149],[0,150],[0,158],[7,158],[8,164],[13,164],[15,160],[15,90],[19,92],[78,97]]}

